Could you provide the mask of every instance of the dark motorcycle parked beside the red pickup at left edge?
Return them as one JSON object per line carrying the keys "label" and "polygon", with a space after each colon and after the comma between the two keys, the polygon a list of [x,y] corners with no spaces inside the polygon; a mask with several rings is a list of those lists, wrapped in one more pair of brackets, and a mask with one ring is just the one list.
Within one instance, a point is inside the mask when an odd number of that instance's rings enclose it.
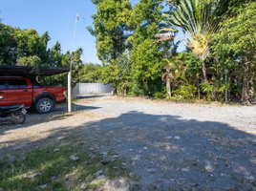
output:
{"label": "dark motorcycle parked beside the red pickup at left edge", "polygon": [[26,121],[27,111],[25,106],[10,105],[0,107],[0,124],[11,121],[13,124],[23,124]]}

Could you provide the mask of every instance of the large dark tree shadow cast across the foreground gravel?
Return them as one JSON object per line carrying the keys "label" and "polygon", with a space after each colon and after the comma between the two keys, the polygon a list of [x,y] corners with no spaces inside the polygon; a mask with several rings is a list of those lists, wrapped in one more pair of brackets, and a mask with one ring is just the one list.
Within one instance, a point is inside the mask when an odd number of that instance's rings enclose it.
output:
{"label": "large dark tree shadow cast across the foreground gravel", "polygon": [[[127,163],[125,167],[139,176],[137,190],[256,188],[256,137],[224,123],[134,111],[76,128],[68,124],[56,127],[51,134],[34,142],[19,140],[27,142],[21,150],[42,145],[72,147],[87,142],[88,147],[75,149],[77,155],[92,151],[120,155]],[[6,156],[18,151],[19,142],[3,142],[13,143],[15,146],[3,148]]]}

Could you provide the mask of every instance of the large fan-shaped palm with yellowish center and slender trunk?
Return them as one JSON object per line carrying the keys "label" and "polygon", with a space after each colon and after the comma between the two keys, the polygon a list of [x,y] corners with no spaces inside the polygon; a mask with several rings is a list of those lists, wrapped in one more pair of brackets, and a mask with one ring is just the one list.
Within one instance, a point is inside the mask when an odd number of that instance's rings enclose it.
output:
{"label": "large fan-shaped palm with yellowish center and slender trunk", "polygon": [[163,14],[163,23],[169,28],[161,31],[174,32],[170,27],[181,28],[186,37],[184,44],[202,60],[204,81],[207,81],[204,60],[209,53],[212,34],[220,30],[223,18],[217,17],[220,6],[221,0],[181,0],[175,9]]}

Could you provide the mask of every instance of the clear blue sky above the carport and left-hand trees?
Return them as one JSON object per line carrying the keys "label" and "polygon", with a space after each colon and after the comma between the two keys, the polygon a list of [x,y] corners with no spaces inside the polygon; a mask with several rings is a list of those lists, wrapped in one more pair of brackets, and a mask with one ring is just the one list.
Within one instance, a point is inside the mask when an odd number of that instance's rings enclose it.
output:
{"label": "clear blue sky above the carport and left-hand trees", "polygon": [[[136,4],[139,0],[130,0]],[[91,0],[1,0],[2,23],[21,29],[35,29],[41,35],[48,31],[49,47],[59,41],[62,53],[72,49],[76,11],[80,14],[75,32],[75,49],[82,47],[84,62],[100,63],[96,56],[96,38],[87,30],[96,6]]]}

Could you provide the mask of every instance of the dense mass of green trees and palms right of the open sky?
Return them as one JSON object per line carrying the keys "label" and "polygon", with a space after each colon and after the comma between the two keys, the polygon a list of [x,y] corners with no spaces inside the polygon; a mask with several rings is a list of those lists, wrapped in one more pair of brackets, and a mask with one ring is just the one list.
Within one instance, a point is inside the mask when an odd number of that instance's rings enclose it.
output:
{"label": "dense mass of green trees and palms right of the open sky", "polygon": [[[93,2],[97,12],[90,31],[105,81],[114,82],[119,93],[224,101],[227,90],[229,100],[241,97],[243,103],[255,96],[255,2],[177,0],[165,7],[163,0],[139,0],[134,7],[127,0]],[[114,33],[117,25],[122,32]],[[178,31],[187,47],[183,53],[177,52],[181,43],[174,43]],[[100,46],[113,47],[113,36],[122,36],[122,49],[102,59]],[[113,55],[109,48],[105,51]]]}

